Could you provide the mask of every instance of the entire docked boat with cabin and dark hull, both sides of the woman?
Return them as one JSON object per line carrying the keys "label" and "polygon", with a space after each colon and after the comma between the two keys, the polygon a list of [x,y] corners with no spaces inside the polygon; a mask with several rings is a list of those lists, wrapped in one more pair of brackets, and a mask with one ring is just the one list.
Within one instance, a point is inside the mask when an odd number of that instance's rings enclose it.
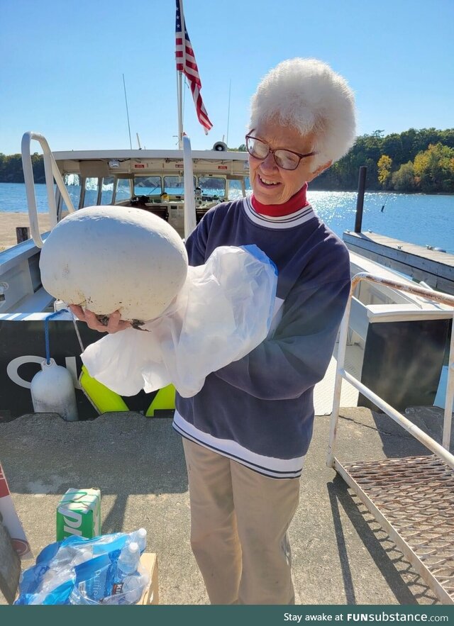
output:
{"label": "entire docked boat with cabin and dark hull, both sides of the woman", "polygon": [[[182,150],[50,151],[38,133],[25,133],[22,158],[32,238],[0,252],[0,420],[33,412],[30,385],[45,358],[45,332],[52,357],[70,370],[76,388],[79,415],[95,418],[93,406],[80,384],[81,354],[99,333],[75,323],[43,288],[39,257],[43,239],[35,205],[31,142],[43,148],[50,224],[67,211],[84,206],[135,206],[155,213],[187,236],[216,203],[244,197],[248,190],[248,155],[228,151],[217,142],[213,150],[191,151],[183,137]],[[55,190],[54,190],[55,185]],[[366,272],[383,279],[411,279],[350,251],[351,275]],[[446,362],[453,309],[418,294],[402,293],[383,284],[360,284],[353,294],[348,350],[362,383],[396,408],[431,405]],[[421,345],[421,341],[423,344]],[[418,350],[426,354],[419,358]],[[395,355],[399,352],[399,359]],[[416,357],[416,358],[415,358]],[[416,366],[415,366],[416,363]],[[384,376],[386,374],[386,376]],[[421,381],[424,381],[421,384]],[[84,393],[85,391],[85,393]],[[146,413],[153,394],[123,398],[118,406]],[[360,406],[373,405],[359,396]],[[108,405],[108,408],[114,405]],[[172,404],[168,406],[171,411]],[[166,407],[161,410],[167,410]]]}

